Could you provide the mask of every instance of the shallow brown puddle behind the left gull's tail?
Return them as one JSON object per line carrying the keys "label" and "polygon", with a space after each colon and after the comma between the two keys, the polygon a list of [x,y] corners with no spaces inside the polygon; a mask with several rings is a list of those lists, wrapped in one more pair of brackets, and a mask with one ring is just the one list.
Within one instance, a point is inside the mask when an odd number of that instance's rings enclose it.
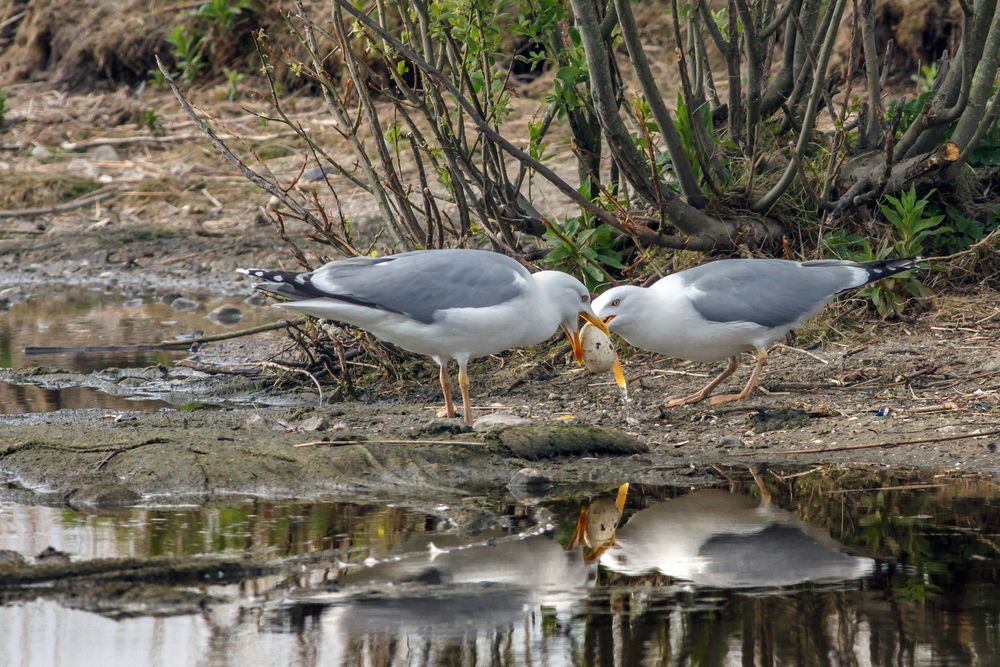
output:
{"label": "shallow brown puddle behind the left gull's tail", "polygon": [[[28,296],[25,300],[24,296]],[[187,356],[186,350],[119,350],[113,352],[64,351],[26,354],[28,347],[95,347],[172,342],[200,335],[214,335],[281,319],[266,306],[252,306],[241,298],[184,295],[197,308],[181,311],[161,300],[158,293],[123,294],[115,290],[82,287],[29,286],[12,300],[0,300],[0,368],[35,366],[89,373],[104,368],[170,366]],[[209,319],[218,306],[230,304],[242,311],[239,322],[224,324]],[[161,401],[129,400],[96,389],[71,387],[44,389],[0,383],[0,414],[51,412],[62,408],[154,410]]]}

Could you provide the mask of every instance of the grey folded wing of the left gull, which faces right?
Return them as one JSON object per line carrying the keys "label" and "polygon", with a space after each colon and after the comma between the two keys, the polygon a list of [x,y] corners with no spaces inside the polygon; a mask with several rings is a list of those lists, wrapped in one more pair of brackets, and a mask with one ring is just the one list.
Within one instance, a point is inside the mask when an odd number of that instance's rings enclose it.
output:
{"label": "grey folded wing of the left gull, which faces right", "polygon": [[520,296],[531,274],[485,250],[417,250],[354,257],[305,274],[314,296],[381,308],[430,323],[448,308],[486,308]]}

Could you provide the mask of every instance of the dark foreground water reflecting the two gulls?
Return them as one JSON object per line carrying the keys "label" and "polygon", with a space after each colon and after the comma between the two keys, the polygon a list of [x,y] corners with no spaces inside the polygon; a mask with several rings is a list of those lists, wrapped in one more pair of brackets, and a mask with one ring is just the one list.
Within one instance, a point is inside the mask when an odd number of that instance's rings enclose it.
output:
{"label": "dark foreground water reflecting the two gulls", "polygon": [[615,489],[426,511],[0,505],[0,549],[25,555],[318,554],[196,587],[213,598],[196,613],[4,598],[0,664],[1000,664],[992,481],[765,477],[770,503],[749,480],[633,486],[622,514]]}

